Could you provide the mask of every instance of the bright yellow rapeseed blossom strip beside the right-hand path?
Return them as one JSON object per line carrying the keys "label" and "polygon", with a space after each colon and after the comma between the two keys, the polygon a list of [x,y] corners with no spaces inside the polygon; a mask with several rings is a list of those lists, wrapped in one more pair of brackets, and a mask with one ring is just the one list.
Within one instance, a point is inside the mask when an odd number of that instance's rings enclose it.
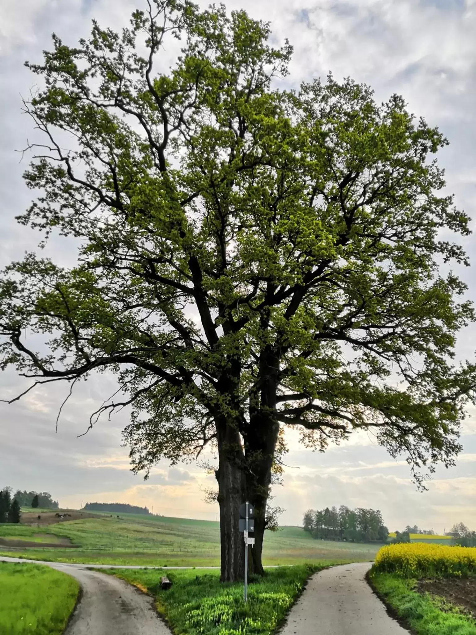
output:
{"label": "bright yellow rapeseed blossom strip beside the right-hand path", "polygon": [[387,545],[375,556],[374,571],[406,578],[476,575],[476,547],[425,542]]}

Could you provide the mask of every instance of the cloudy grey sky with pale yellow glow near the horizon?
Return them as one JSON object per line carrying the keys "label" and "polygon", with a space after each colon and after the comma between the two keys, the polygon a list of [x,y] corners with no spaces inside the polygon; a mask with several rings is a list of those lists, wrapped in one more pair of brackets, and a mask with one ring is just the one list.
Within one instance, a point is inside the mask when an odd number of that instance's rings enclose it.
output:
{"label": "cloudy grey sky with pale yellow glow near the horizon", "polygon": [[[142,0],[23,0],[0,6],[0,266],[36,248],[34,232],[14,217],[28,206],[22,181],[27,159],[21,150],[32,136],[32,123],[21,113],[36,77],[23,67],[50,48],[51,32],[74,45],[89,31],[91,18],[120,29]],[[208,2],[199,3],[206,6]],[[392,93],[406,98],[416,116],[438,125],[451,145],[439,154],[446,168],[447,190],[456,204],[476,218],[476,1],[475,0],[227,0],[227,8],[246,9],[270,20],[274,44],[285,37],[294,45],[289,84],[324,77],[353,77],[370,84],[378,102]],[[473,223],[474,225],[474,223]],[[474,229],[474,228],[473,228]],[[476,300],[474,236],[465,241],[472,269],[459,271]],[[53,240],[49,255],[71,262],[74,245]],[[463,333],[459,358],[473,359],[476,326]],[[0,373],[0,399],[22,389],[14,373]],[[118,501],[154,506],[167,516],[215,519],[218,508],[205,504],[202,490],[213,485],[197,465],[158,465],[149,481],[129,471],[121,447],[127,413],[98,424],[86,436],[91,411],[116,388],[114,378],[98,377],[80,385],[63,410],[55,433],[65,387],[31,392],[12,405],[0,403],[0,486],[48,490],[63,506],[81,501]],[[463,521],[476,529],[476,413],[466,420],[463,453],[456,467],[439,469],[419,493],[405,462],[397,463],[370,433],[329,449],[324,455],[301,448],[289,436],[284,486],[275,504],[286,509],[281,522],[301,523],[308,507],[345,504],[380,509],[390,530],[415,523],[435,531]]]}

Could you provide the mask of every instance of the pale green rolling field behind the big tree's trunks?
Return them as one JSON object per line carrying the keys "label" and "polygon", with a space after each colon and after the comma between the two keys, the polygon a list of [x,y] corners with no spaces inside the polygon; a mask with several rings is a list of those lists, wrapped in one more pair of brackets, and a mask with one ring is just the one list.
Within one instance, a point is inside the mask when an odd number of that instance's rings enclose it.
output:
{"label": "pale green rolling field behind the big tree's trunks", "polygon": [[[99,515],[41,529],[22,525],[0,525],[0,537],[25,540],[41,532],[50,542],[66,537],[79,549],[29,548],[15,556],[73,563],[154,566],[218,566],[220,525],[162,516]],[[46,540],[46,538],[45,538]],[[300,527],[267,531],[263,549],[265,565],[295,565],[322,559],[333,561],[373,560],[379,545],[314,540]],[[6,547],[0,547],[8,555]],[[12,555],[12,552],[10,552]]]}

